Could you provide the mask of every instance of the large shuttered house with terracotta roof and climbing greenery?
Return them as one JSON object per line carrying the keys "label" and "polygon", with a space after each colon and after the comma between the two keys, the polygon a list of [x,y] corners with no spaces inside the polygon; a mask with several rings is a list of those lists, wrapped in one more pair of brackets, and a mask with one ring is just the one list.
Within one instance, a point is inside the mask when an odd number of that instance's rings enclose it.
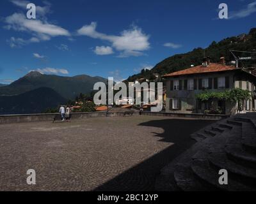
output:
{"label": "large shuttered house with terracotta roof and climbing greenery", "polygon": [[[242,112],[255,111],[256,77],[252,73],[234,66],[225,65],[221,57],[219,64],[205,58],[201,66],[194,66],[163,76],[166,78],[166,112],[204,113],[209,103],[196,99],[196,94],[209,90],[223,92],[234,88],[247,89],[252,98],[244,103]],[[215,101],[222,113],[235,114],[236,105],[230,101]]]}

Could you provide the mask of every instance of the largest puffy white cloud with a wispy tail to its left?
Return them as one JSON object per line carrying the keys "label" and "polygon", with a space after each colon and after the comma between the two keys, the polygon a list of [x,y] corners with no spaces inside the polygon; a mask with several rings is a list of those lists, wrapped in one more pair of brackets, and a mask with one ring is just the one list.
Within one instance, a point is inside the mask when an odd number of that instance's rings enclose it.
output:
{"label": "largest puffy white cloud with a wispy tail to its left", "polygon": [[132,29],[122,31],[119,36],[99,33],[96,31],[96,27],[97,23],[92,22],[90,25],[81,27],[77,33],[111,42],[112,47],[120,51],[122,57],[143,55],[142,51],[150,48],[149,36],[142,33],[139,27],[133,26]]}

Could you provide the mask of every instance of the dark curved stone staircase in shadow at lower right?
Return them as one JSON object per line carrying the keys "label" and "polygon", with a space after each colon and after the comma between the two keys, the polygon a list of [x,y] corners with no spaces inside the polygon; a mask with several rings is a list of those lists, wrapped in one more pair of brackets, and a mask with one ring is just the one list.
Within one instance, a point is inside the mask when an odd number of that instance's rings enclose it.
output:
{"label": "dark curved stone staircase in shadow at lower right", "polygon": [[[220,120],[191,135],[191,149],[157,178],[159,191],[256,191],[256,113]],[[219,170],[228,171],[220,185]]]}

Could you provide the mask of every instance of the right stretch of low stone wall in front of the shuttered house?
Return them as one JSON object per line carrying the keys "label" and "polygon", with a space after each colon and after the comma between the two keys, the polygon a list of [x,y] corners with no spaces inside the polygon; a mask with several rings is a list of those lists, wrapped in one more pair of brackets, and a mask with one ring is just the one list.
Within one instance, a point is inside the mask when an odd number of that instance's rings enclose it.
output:
{"label": "right stretch of low stone wall in front of the shuttered house", "polygon": [[187,117],[193,119],[212,119],[221,120],[227,119],[230,115],[212,115],[212,114],[200,114],[200,113],[166,113],[166,112],[143,112],[142,115],[152,116],[166,116],[166,117]]}

